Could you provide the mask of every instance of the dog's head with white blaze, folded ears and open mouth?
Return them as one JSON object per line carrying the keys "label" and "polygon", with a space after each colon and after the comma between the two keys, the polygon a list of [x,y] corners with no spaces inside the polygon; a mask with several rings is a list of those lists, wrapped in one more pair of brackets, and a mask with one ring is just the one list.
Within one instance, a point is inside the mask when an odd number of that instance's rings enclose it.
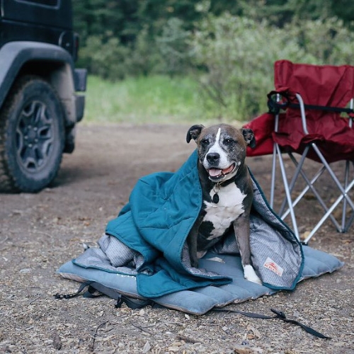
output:
{"label": "dog's head with white blaze, folded ears and open mouth", "polygon": [[187,142],[191,139],[197,143],[200,163],[213,182],[234,177],[239,166],[244,164],[247,145],[256,146],[251,129],[239,130],[227,124],[193,125],[188,130]]}

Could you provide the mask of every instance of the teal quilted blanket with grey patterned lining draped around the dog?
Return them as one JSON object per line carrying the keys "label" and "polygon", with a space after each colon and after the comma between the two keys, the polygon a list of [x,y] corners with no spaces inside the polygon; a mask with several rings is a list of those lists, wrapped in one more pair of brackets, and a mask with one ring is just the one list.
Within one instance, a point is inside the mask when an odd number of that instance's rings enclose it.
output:
{"label": "teal quilted blanket with grey patterned lining draped around the dog", "polygon": [[[293,290],[304,265],[302,246],[292,231],[271,210],[253,178],[251,253],[263,285]],[[136,277],[142,297],[225,285],[232,275],[190,265],[186,238],[202,207],[198,156],[193,152],[176,173],[153,173],[141,178],[130,200],[110,221],[98,241],[74,259],[74,265]],[[238,253],[232,231],[211,250]]]}

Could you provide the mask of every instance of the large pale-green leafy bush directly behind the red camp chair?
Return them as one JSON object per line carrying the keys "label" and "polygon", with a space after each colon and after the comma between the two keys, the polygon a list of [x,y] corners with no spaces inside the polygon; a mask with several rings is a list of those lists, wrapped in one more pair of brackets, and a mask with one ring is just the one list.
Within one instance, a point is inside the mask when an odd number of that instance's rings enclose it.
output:
{"label": "large pale-green leafy bush directly behind the red camp chair", "polygon": [[[351,64],[354,34],[336,19],[290,23],[284,29],[224,13],[207,15],[190,38],[206,107],[222,119],[249,120],[264,112],[278,59]],[[210,105],[210,102],[212,104]]]}

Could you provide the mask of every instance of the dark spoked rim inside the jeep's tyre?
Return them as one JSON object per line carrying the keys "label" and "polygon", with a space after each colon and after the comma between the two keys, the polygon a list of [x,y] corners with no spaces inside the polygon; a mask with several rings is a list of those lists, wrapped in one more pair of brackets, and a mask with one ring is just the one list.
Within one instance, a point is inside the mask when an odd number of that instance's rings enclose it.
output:
{"label": "dark spoked rim inside the jeep's tyre", "polygon": [[40,171],[52,153],[55,128],[42,101],[23,106],[16,127],[16,152],[21,168],[30,173]]}

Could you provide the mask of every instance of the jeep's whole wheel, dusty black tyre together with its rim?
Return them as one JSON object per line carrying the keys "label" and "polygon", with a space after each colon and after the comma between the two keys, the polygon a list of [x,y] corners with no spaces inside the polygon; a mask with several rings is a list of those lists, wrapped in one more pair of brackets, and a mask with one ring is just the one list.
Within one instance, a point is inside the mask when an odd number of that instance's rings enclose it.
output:
{"label": "jeep's whole wheel, dusty black tyre together with its rim", "polygon": [[36,193],[50,184],[62,161],[62,105],[39,76],[16,81],[0,111],[0,191]]}

